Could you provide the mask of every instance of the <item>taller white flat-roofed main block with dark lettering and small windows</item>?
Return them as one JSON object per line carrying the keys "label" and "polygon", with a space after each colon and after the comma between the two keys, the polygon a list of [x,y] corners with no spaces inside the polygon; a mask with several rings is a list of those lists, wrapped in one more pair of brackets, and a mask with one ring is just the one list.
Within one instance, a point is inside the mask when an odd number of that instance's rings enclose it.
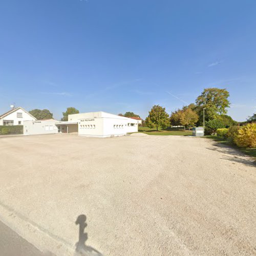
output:
{"label": "taller white flat-roofed main block with dark lettering and small windows", "polygon": [[69,115],[69,122],[77,122],[81,136],[111,137],[138,132],[137,120],[102,111]]}

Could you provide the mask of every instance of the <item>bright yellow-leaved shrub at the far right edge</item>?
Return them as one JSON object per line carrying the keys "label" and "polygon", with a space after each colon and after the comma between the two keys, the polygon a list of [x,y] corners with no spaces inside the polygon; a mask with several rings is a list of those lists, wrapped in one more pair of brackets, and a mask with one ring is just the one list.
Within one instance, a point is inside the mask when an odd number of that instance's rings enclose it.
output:
{"label": "bright yellow-leaved shrub at the far right edge", "polygon": [[238,130],[234,143],[239,147],[256,147],[256,123],[248,123]]}

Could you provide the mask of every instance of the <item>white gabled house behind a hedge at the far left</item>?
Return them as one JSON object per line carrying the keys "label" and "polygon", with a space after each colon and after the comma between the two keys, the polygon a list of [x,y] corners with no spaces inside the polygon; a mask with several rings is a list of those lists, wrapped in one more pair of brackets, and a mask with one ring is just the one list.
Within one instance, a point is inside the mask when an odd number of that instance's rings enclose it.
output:
{"label": "white gabled house behind a hedge at the far left", "polygon": [[18,106],[0,116],[0,125],[23,125],[28,120],[35,121],[36,118]]}

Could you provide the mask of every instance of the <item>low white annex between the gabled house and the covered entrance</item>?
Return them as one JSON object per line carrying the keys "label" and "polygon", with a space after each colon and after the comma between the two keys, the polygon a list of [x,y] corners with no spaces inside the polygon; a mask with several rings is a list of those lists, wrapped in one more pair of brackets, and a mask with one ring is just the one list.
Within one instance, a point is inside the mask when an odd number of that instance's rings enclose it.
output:
{"label": "low white annex between the gabled house and the covered entrance", "polygon": [[53,134],[60,133],[60,129],[56,123],[59,121],[54,119],[24,121],[24,135]]}

